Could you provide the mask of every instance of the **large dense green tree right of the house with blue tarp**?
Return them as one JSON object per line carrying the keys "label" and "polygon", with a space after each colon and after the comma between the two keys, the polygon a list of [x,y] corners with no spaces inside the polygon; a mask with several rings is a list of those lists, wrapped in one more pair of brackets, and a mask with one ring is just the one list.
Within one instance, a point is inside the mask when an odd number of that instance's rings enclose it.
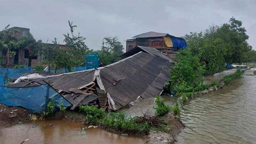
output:
{"label": "large dense green tree right of the house with blue tarp", "polygon": [[206,66],[205,75],[221,72],[229,64],[245,62],[246,53],[252,49],[242,21],[233,17],[229,23],[212,24],[204,32],[190,32],[184,38],[188,50]]}

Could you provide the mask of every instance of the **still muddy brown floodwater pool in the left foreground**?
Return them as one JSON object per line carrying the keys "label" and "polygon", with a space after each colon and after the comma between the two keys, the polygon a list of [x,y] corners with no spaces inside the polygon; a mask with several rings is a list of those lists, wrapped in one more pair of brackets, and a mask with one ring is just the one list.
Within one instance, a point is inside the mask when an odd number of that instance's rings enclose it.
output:
{"label": "still muddy brown floodwater pool in the left foreground", "polygon": [[145,140],[135,136],[120,136],[92,128],[81,132],[84,126],[78,122],[47,120],[0,128],[0,144],[143,144]]}

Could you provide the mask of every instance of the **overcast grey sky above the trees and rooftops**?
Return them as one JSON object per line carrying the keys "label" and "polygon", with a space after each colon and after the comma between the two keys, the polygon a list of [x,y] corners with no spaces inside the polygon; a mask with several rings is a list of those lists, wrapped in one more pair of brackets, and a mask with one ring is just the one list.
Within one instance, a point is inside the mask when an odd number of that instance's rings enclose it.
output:
{"label": "overcast grey sky above the trees and rooftops", "polygon": [[30,28],[36,40],[54,37],[63,44],[63,34],[69,31],[68,20],[76,32],[86,38],[86,45],[100,49],[106,36],[124,40],[149,32],[184,36],[200,32],[212,23],[227,23],[234,16],[242,20],[250,36],[248,42],[256,49],[256,0],[225,1],[2,1],[0,28]]}

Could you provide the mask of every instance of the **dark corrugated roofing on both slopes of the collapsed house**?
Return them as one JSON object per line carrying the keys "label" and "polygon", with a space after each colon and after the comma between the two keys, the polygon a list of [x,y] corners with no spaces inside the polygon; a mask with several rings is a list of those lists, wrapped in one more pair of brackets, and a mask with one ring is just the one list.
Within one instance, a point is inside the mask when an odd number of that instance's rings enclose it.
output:
{"label": "dark corrugated roofing on both slopes of the collapsed house", "polygon": [[[98,68],[98,70],[105,91],[114,100],[116,108],[120,109],[136,100],[138,96],[148,98],[160,94],[164,83],[168,80],[168,70],[171,66],[170,60],[155,54],[139,52],[104,68]],[[65,98],[72,104],[77,104],[77,102],[88,104],[96,100],[98,96],[91,93],[86,96],[75,94],[70,92],[70,89],[80,88],[92,82],[95,78],[94,72],[95,70],[87,70],[36,78],[32,81],[39,84],[44,84],[43,80],[50,82],[53,88],[69,93]]]}

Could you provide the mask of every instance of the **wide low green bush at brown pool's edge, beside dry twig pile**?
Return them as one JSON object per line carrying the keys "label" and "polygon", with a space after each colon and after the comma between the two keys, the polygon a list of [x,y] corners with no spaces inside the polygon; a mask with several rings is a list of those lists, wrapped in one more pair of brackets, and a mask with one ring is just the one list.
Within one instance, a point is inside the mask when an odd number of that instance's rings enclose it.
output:
{"label": "wide low green bush at brown pool's edge, beside dry twig pile", "polygon": [[126,118],[126,114],[110,112],[109,118],[104,118],[103,124],[105,128],[117,128],[118,130],[128,130],[130,132],[149,132],[149,124],[142,122],[138,118]]}

